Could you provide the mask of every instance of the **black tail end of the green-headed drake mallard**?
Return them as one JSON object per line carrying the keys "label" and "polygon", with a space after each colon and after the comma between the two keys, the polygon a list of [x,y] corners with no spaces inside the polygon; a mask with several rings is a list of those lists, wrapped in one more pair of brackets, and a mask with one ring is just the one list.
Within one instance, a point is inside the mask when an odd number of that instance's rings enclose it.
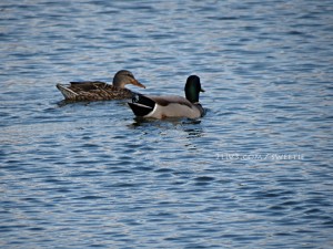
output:
{"label": "black tail end of the green-headed drake mallard", "polygon": [[154,110],[155,102],[142,94],[135,94],[128,103],[135,116],[145,116]]}

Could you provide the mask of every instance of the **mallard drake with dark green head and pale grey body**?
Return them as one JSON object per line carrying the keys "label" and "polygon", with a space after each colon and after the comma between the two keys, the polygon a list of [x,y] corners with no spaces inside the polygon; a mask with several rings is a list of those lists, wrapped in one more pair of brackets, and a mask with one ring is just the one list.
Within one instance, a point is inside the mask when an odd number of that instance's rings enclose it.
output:
{"label": "mallard drake with dark green head and pale grey body", "polygon": [[143,95],[135,94],[129,106],[137,117],[163,120],[167,117],[199,118],[205,113],[199,103],[201,87],[200,77],[190,75],[186,80],[185,97],[178,95]]}

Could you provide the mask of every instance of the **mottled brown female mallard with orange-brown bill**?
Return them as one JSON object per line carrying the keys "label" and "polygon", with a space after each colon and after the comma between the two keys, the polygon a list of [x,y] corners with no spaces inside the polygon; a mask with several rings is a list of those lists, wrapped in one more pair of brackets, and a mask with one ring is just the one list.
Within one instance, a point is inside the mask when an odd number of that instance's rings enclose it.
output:
{"label": "mottled brown female mallard with orange-brown bill", "polygon": [[114,74],[112,85],[100,81],[70,82],[70,84],[57,84],[57,89],[67,101],[109,101],[132,98],[133,92],[125,89],[127,84],[133,84],[145,89],[130,71],[121,70]]}

